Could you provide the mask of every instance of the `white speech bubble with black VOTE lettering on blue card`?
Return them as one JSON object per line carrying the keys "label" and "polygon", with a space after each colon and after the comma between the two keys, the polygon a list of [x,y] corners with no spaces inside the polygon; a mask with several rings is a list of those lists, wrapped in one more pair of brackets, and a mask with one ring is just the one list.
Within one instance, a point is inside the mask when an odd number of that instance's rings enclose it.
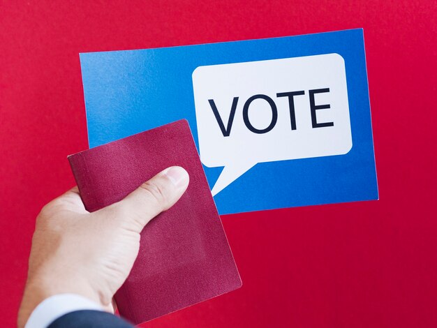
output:
{"label": "white speech bubble with black VOTE lettering on blue card", "polygon": [[213,195],[257,163],[342,155],[352,148],[339,54],[199,66],[193,90],[200,160],[224,166]]}

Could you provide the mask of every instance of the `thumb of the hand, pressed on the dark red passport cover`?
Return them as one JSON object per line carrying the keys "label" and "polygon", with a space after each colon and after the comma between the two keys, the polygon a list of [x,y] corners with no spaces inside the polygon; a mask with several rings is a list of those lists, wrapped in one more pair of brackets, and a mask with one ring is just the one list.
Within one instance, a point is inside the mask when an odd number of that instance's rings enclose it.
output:
{"label": "thumb of the hand, pressed on the dark red passport cover", "polygon": [[126,220],[133,220],[138,232],[155,216],[170,209],[188,187],[188,173],[172,166],[156,174],[133,193],[114,204]]}

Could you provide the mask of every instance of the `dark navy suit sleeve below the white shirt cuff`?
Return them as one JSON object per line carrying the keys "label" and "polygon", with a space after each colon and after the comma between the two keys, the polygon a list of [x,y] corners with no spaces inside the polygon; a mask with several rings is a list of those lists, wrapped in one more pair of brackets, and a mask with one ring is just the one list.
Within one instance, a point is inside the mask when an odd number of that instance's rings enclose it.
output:
{"label": "dark navy suit sleeve below the white shirt cuff", "polygon": [[108,312],[82,310],[73,311],[54,320],[47,328],[132,328],[127,321]]}

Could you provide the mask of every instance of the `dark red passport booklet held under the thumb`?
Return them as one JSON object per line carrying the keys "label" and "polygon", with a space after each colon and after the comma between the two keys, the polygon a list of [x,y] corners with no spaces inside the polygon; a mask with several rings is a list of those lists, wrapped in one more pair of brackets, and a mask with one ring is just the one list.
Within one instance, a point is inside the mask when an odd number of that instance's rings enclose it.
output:
{"label": "dark red passport booklet held under the thumb", "polygon": [[190,175],[181,199],[141,233],[140,253],[115,295],[134,324],[242,285],[186,120],[68,156],[88,211],[122,200],[166,167]]}

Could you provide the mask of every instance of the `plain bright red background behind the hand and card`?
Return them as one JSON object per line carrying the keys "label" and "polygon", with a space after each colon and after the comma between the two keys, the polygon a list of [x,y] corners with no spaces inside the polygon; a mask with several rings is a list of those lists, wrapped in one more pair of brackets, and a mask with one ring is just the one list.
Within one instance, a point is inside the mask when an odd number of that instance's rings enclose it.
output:
{"label": "plain bright red background behind the hand and card", "polygon": [[79,52],[355,27],[380,200],[223,216],[243,287],[145,326],[437,327],[436,1],[95,2],[0,4],[2,327],[34,219],[73,186],[66,156],[87,148]]}

